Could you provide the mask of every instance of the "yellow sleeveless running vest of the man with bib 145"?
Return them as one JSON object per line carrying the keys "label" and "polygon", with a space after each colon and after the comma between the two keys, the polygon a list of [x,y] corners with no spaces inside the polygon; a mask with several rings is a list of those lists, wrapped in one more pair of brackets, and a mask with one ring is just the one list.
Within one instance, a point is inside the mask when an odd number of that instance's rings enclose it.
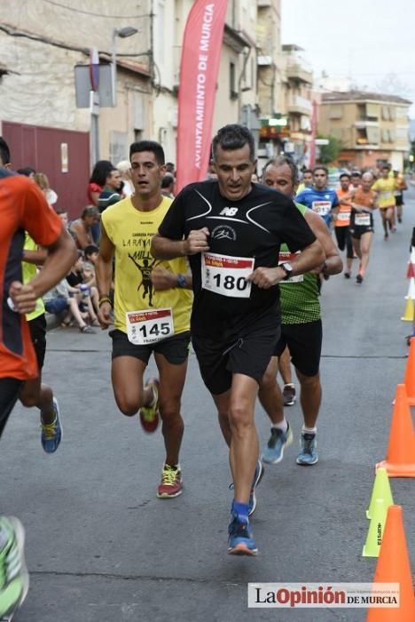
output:
{"label": "yellow sleeveless running vest of the man with bib 145", "polygon": [[163,197],[153,211],[138,211],[129,197],[102,213],[106,234],[115,246],[114,327],[127,332],[126,314],[131,311],[171,307],[175,334],[190,330],[192,291],[176,287],[154,291],[150,279],[154,267],[165,267],[176,275],[188,272],[185,257],[153,259],[150,243],[172,201]]}

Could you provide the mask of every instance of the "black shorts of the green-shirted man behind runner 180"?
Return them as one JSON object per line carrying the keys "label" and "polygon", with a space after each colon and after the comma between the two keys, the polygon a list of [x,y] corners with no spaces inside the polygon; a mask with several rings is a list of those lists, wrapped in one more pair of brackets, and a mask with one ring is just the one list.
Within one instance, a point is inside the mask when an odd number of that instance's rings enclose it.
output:
{"label": "black shorts of the green-shirted man behind runner 180", "polygon": [[282,355],[288,346],[295,369],[303,376],[317,376],[322,341],[321,320],[304,324],[282,324],[281,337],[273,354]]}

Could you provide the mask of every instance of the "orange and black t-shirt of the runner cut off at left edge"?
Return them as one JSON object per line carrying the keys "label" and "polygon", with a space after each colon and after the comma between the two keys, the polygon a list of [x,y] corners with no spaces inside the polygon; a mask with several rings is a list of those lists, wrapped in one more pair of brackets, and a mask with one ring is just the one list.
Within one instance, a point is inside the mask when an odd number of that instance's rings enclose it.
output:
{"label": "orange and black t-shirt of the runner cut off at left edge", "polygon": [[49,246],[58,239],[62,222],[35,182],[1,168],[0,222],[0,378],[29,380],[38,375],[35,350],[25,316],[7,304],[9,288],[22,281],[25,230],[36,243]]}

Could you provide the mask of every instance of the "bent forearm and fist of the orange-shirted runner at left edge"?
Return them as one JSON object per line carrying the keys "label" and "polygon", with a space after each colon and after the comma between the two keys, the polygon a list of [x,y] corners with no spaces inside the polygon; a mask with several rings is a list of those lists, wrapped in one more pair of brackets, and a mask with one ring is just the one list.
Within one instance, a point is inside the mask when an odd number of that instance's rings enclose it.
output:
{"label": "bent forearm and fist of the orange-shirted runner at left edge", "polygon": [[74,265],[76,259],[74,240],[65,229],[62,229],[58,239],[46,248],[48,255],[43,269],[35,275],[35,278],[26,285],[20,281],[13,281],[10,286],[9,296],[16,311],[21,314],[34,311],[36,299],[41,298],[53,285],[59,283]]}

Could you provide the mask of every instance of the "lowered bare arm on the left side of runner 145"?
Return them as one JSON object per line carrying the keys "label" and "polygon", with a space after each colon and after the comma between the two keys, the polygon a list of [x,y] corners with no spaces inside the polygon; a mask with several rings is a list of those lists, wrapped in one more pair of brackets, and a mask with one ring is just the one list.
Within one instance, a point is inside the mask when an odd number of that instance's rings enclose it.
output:
{"label": "lowered bare arm on the left side of runner 145", "polygon": [[104,227],[104,223],[101,220],[101,236],[99,238],[99,253],[95,266],[95,276],[99,292],[98,322],[103,330],[113,323],[109,293],[113,280],[114,250],[114,244],[109,239],[106,227]]}

